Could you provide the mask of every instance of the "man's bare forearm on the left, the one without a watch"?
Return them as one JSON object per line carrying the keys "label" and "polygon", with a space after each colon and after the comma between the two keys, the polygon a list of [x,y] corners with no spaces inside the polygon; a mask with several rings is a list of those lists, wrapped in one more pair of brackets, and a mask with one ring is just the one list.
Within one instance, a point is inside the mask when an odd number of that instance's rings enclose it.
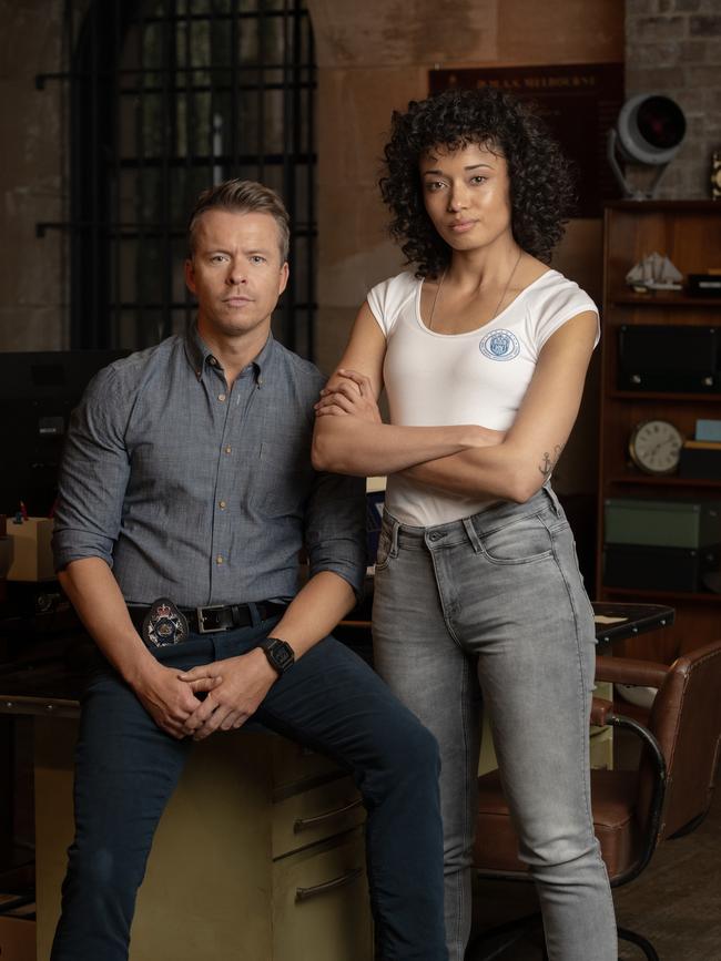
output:
{"label": "man's bare forearm on the left, the one without a watch", "polygon": [[58,577],[102,653],[128,684],[136,688],[158,662],[135,631],[108,564],[100,558],[84,558],[68,564]]}

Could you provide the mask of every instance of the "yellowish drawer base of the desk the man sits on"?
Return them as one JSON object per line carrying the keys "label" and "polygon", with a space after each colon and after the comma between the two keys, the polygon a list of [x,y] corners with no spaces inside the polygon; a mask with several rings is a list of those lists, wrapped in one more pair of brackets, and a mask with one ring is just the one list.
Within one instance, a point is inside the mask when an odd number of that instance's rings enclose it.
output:
{"label": "yellowish drawer base of the desk the man sits on", "polygon": [[[38,961],[72,840],[75,735],[35,718]],[[283,737],[196,745],[155,835],[131,961],[370,961],[364,819],[352,778]]]}

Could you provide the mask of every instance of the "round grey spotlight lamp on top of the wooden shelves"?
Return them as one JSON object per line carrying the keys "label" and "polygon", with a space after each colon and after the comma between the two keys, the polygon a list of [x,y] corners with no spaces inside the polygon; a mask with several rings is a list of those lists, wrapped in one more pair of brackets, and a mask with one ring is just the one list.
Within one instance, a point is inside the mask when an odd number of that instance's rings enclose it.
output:
{"label": "round grey spotlight lamp on top of the wooden shelves", "polygon": [[[679,104],[662,93],[638,93],[626,101],[608,132],[607,156],[624,195],[633,201],[653,197],[666,168],[677,155],[686,136],[686,116]],[[656,166],[648,191],[632,187],[626,180],[621,160]]]}

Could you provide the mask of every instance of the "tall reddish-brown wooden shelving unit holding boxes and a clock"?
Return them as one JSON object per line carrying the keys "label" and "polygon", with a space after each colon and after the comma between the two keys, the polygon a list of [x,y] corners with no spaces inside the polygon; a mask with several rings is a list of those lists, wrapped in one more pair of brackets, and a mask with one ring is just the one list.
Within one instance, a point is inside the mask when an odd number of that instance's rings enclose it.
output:
{"label": "tall reddish-brown wooden shelving unit holding boxes and a clock", "polygon": [[721,298],[689,296],[686,288],[634,294],[626,283],[626,274],[653,252],[667,255],[684,276],[721,267],[721,203],[622,201],[606,209],[596,596],[676,607],[673,627],[624,642],[629,655],[670,662],[680,651],[721,636],[721,594],[698,589],[660,591],[650,584],[644,589],[632,584],[609,586],[603,568],[605,503],[608,498],[721,501],[718,480],[643,473],[629,456],[631,432],[643,420],[671,421],[686,439],[693,439],[698,419],[721,419],[721,391],[718,386],[692,392],[686,387],[647,390],[619,385],[619,333],[638,325],[721,327]]}

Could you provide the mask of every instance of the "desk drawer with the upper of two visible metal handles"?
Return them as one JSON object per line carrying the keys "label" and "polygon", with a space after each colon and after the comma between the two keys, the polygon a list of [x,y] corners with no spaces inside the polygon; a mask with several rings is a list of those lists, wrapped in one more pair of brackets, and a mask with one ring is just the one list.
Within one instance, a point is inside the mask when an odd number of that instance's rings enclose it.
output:
{"label": "desk drawer with the upper of two visible metal handles", "polygon": [[365,809],[353,780],[341,777],[273,804],[273,857],[357,827]]}

